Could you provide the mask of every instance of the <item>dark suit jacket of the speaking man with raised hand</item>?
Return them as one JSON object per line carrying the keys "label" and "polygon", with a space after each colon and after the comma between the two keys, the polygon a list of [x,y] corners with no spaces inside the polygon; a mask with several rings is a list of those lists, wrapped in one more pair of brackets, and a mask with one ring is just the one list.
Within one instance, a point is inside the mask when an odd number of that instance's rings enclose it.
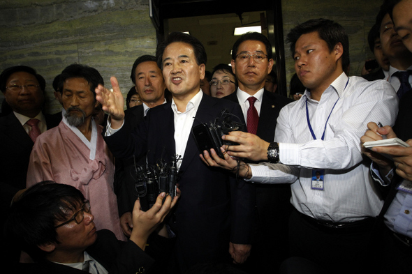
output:
{"label": "dark suit jacket of the speaking man with raised hand", "polygon": [[[213,121],[223,108],[243,117],[239,105],[203,95],[193,126]],[[105,137],[105,142],[117,158],[138,158],[147,151],[153,165],[162,156],[169,161],[175,155],[174,134],[174,114],[167,103],[152,108],[135,130],[122,127]],[[223,261],[228,256],[229,241],[251,243],[253,185],[236,180],[223,169],[208,167],[199,154],[191,134],[179,170],[182,196],[170,220],[177,234],[176,255],[182,272],[200,262]]]}

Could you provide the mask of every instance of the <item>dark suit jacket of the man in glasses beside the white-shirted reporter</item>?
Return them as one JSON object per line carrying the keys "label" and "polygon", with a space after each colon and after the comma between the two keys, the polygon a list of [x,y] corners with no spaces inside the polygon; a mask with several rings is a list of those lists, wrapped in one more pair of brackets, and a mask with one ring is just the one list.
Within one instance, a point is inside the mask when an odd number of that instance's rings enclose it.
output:
{"label": "dark suit jacket of the man in glasses beside the white-shirted reporter", "polygon": [[[224,99],[239,103],[236,92]],[[274,130],[282,107],[293,100],[263,92],[256,135],[266,142],[274,142]],[[288,218],[293,209],[290,204],[290,184],[254,184],[258,211],[256,243],[253,245],[248,266],[252,272],[269,273],[278,269],[288,257]],[[267,264],[270,261],[271,264]]]}

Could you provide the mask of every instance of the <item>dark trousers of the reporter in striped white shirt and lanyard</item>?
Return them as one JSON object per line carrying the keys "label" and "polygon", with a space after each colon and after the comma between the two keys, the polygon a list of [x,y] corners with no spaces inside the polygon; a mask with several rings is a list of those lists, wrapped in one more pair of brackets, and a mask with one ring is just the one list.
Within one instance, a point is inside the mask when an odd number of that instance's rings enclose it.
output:
{"label": "dark trousers of the reporter in striped white shirt and lanyard", "polygon": [[[326,273],[368,273],[374,219],[332,228],[294,210],[290,215],[290,256],[312,261]],[[365,272],[366,271],[366,272]]]}

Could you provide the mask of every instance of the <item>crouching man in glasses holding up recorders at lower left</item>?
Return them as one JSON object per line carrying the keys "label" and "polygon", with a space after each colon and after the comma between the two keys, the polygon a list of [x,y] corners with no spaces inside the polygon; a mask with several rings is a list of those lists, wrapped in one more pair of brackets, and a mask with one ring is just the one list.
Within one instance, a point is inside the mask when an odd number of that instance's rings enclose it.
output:
{"label": "crouching man in glasses holding up recorders at lower left", "polygon": [[96,229],[94,206],[80,190],[53,181],[37,183],[13,203],[6,222],[6,236],[34,263],[8,266],[13,273],[147,273],[170,252],[170,240],[157,236],[156,245],[147,245],[147,239],[177,199],[163,192],[146,212],[136,201],[133,231],[123,242],[109,230]]}

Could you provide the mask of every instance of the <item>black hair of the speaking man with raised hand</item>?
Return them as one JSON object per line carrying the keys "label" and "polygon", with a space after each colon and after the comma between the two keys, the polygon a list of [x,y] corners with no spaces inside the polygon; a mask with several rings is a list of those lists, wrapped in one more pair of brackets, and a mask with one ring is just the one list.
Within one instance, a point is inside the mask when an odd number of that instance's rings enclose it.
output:
{"label": "black hair of the speaking man with raised hand", "polygon": [[170,45],[171,43],[186,43],[191,45],[193,48],[195,57],[196,57],[196,63],[200,66],[201,64],[205,64],[207,62],[207,54],[205,47],[203,47],[203,44],[198,40],[198,38],[191,36],[189,34],[179,32],[179,31],[173,31],[168,35],[165,40],[160,43],[157,46],[156,49],[156,59],[157,59],[157,66],[159,68],[163,69],[163,52],[165,51],[166,47]]}

